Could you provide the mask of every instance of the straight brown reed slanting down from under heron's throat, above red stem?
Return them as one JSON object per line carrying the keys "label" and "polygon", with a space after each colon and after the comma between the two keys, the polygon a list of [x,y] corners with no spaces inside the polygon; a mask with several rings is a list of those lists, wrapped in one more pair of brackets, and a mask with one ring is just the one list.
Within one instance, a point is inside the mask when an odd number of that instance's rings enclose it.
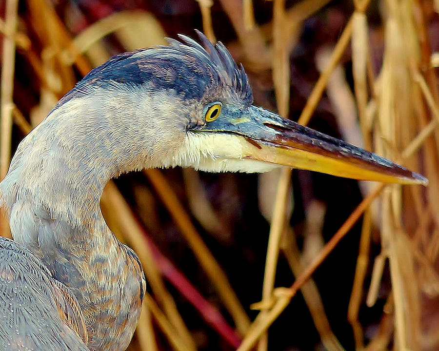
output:
{"label": "straight brown reed slanting down from under heron's throat, above red stem", "polygon": [[150,169],[144,171],[150,182],[153,184],[163,204],[167,207],[169,213],[174,218],[180,228],[181,234],[187,240],[192,252],[197,257],[204,272],[215,285],[220,295],[224,307],[232,316],[237,330],[242,335],[248,330],[250,325],[249,318],[242,308],[236,293],[230,286],[226,274],[221,269],[218,262],[210,253],[206,244],[198,234],[192,221],[181,205],[177,195],[172,191],[166,179],[159,170]]}

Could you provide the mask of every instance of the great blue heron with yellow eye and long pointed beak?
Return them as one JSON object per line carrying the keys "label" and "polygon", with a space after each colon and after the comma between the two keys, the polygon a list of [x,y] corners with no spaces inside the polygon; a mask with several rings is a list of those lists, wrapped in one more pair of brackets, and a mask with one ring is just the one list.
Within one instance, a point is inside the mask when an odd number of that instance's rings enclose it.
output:
{"label": "great blue heron with yellow eye and long pointed beak", "polygon": [[252,105],[223,44],[186,36],[92,70],[25,137],[0,183],[1,350],[125,350],[145,281],[100,211],[109,179],[152,167],[281,165],[426,184],[419,174]]}

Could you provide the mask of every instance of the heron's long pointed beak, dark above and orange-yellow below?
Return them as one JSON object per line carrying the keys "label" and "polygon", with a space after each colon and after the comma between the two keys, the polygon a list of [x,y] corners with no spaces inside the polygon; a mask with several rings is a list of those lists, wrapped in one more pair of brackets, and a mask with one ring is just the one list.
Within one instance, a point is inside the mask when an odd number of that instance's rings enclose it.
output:
{"label": "heron's long pointed beak, dark above and orange-yellow below", "polygon": [[397,163],[261,107],[251,106],[239,116],[221,113],[199,131],[244,137],[251,145],[243,158],[359,180],[428,184],[427,178]]}

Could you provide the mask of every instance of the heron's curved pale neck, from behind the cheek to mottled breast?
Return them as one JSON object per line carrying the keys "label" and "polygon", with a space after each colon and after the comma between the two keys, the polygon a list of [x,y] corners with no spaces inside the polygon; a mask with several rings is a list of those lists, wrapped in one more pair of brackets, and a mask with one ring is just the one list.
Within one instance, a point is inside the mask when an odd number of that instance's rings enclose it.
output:
{"label": "heron's curved pale neck, from behind the cheek to mottled breast", "polygon": [[0,183],[14,239],[72,288],[93,331],[90,350],[126,349],[144,292],[137,256],[100,211],[110,178],[154,165],[139,113],[129,101],[121,106],[96,97],[64,102],[22,140]]}

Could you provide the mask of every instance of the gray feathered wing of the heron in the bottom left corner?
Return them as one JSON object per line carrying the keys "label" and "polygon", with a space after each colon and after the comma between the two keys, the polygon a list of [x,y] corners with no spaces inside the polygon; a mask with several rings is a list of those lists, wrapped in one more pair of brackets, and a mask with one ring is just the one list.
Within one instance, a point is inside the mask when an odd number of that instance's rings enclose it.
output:
{"label": "gray feathered wing of the heron in the bottom left corner", "polygon": [[0,237],[0,350],[89,351],[76,306],[31,251]]}

